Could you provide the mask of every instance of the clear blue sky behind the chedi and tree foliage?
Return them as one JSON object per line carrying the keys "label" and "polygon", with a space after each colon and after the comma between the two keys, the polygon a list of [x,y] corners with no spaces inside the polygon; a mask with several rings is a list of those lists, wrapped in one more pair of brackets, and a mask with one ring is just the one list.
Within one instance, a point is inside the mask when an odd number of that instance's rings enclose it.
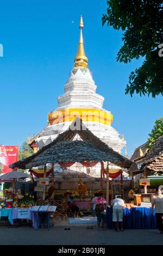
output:
{"label": "clear blue sky behind the chedi and tree foliage", "polygon": [[21,145],[58,107],[77,53],[80,14],[89,68],[97,93],[105,97],[104,108],[114,115],[112,126],[126,138],[129,155],[147,141],[155,119],[163,115],[162,97],[124,94],[130,72],[142,60],[116,62],[122,32],[102,27],[105,0],[5,0],[0,8],[0,144]]}

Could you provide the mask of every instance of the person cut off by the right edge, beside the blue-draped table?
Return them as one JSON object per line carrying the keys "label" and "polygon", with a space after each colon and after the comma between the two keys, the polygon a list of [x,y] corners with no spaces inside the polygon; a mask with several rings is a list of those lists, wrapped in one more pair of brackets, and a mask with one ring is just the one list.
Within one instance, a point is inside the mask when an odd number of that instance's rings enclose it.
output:
{"label": "person cut off by the right edge, beside the blue-draped table", "polygon": [[151,214],[153,214],[153,208],[155,206],[155,216],[156,216],[156,223],[158,226],[158,233],[162,234],[163,232],[163,194],[161,194],[161,190],[158,190],[156,196],[152,198],[152,209]]}

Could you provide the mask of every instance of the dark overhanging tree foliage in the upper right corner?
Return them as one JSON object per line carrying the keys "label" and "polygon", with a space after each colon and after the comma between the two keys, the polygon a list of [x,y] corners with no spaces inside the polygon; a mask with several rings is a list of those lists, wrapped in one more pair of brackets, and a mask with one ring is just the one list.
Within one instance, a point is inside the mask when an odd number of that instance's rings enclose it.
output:
{"label": "dark overhanging tree foliage in the upper right corner", "polygon": [[[117,61],[128,63],[132,59],[145,60],[131,72],[126,94],[163,95],[163,1],[162,0],[110,0],[102,23],[114,29],[122,29],[123,46],[117,53]],[[163,45],[162,45],[163,46]],[[163,54],[162,54],[163,55]]]}

